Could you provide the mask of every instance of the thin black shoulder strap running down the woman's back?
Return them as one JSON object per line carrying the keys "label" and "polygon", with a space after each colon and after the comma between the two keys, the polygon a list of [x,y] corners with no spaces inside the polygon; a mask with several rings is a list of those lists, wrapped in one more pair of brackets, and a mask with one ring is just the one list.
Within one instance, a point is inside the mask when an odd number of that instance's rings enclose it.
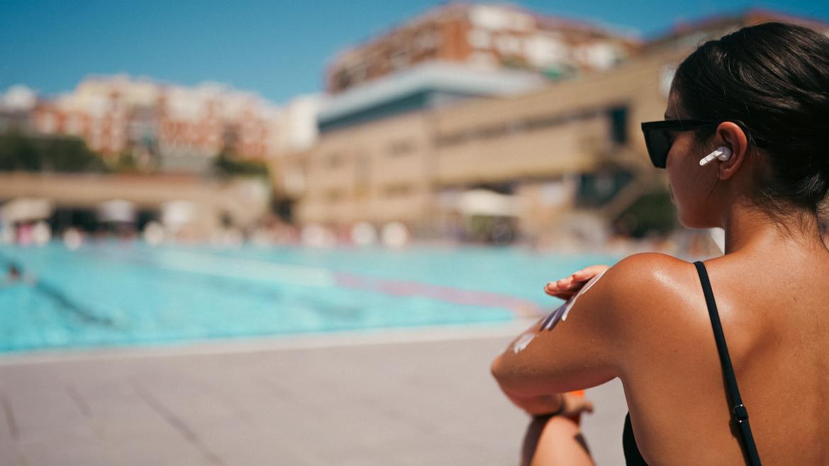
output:
{"label": "thin black shoulder strap running down the woman's back", "polygon": [[734,375],[734,368],[731,366],[731,358],[728,355],[728,346],[725,345],[725,335],[720,324],[720,313],[717,312],[717,305],[714,301],[714,291],[711,291],[711,282],[708,279],[708,271],[701,261],[694,262],[696,272],[700,275],[702,291],[705,293],[705,305],[708,306],[708,315],[711,318],[711,327],[714,329],[714,339],[717,342],[717,353],[720,353],[720,364],[723,368],[725,384],[728,386],[731,398],[731,418],[739,427],[743,440],[743,448],[749,464],[759,465],[760,457],[757,454],[757,445],[754,444],[754,437],[751,435],[749,426],[749,411],[743,405],[743,399],[739,396],[737,388],[737,377]]}

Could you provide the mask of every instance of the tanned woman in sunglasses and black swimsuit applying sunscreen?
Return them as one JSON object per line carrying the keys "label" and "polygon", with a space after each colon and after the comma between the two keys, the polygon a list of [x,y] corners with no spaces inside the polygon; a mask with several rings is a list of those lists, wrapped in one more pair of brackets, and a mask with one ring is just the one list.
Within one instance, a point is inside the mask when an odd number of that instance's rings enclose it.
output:
{"label": "tanned woman in sunglasses and black swimsuit applying sunscreen", "polygon": [[[829,464],[829,37],[766,23],[706,42],[676,70],[665,120],[642,124],[651,160],[682,224],[725,228],[725,255],[636,254],[547,284],[566,297],[594,280],[492,373],[536,426],[584,408],[560,393],[619,377],[628,464]],[[550,419],[533,464],[589,462]]]}

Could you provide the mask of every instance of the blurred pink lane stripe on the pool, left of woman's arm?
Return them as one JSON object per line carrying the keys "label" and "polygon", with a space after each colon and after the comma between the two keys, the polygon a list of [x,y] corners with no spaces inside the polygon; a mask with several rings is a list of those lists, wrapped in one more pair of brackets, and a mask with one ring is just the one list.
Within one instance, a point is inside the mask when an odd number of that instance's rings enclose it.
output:
{"label": "blurred pink lane stripe on the pool, left of woman's arm", "polygon": [[539,306],[531,300],[522,300],[516,296],[493,293],[492,291],[463,290],[451,286],[420,283],[419,281],[386,280],[343,272],[337,272],[334,278],[337,286],[356,290],[377,291],[395,296],[424,296],[458,305],[503,307],[520,315],[541,313]]}

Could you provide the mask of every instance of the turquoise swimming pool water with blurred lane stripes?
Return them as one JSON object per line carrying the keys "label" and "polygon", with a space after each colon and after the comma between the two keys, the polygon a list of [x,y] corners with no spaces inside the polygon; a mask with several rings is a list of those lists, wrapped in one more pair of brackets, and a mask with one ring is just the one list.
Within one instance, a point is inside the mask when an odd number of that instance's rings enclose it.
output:
{"label": "turquoise swimming pool water with blurred lane stripes", "polygon": [[554,307],[546,281],[607,255],[521,248],[0,246],[0,352],[490,324]]}

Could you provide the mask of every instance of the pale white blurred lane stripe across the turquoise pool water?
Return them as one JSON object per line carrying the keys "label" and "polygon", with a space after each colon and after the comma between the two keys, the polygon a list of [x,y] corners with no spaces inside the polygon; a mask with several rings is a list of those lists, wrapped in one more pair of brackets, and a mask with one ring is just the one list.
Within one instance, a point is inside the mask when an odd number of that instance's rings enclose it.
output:
{"label": "pale white blurred lane stripe across the turquoise pool water", "polygon": [[332,272],[318,267],[295,266],[235,257],[216,257],[196,252],[164,252],[159,267],[211,276],[244,278],[251,281],[290,283],[300,286],[335,286]]}

